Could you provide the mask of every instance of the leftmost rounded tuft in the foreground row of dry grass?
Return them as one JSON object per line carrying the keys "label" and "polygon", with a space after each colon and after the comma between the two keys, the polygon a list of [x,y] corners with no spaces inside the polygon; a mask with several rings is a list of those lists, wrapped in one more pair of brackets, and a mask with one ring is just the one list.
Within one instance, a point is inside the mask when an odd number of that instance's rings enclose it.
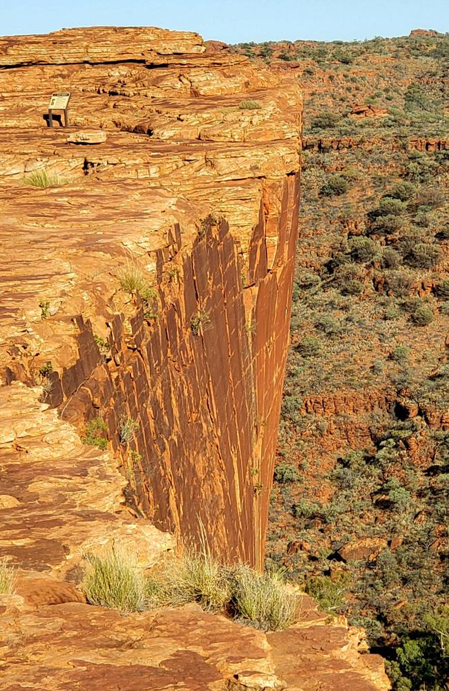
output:
{"label": "leftmost rounded tuft in the foreground row of dry grass", "polygon": [[82,589],[91,605],[111,607],[123,614],[141,612],[146,606],[145,580],[135,557],[112,549],[86,556]]}

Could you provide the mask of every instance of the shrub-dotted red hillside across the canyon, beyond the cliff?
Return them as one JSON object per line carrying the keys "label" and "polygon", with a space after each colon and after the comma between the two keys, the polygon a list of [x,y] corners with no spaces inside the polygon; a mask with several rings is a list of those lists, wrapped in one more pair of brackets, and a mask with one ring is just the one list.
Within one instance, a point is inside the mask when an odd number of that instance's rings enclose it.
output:
{"label": "shrub-dotted red hillside across the canyon, beyond the cliff", "polygon": [[239,49],[305,91],[267,564],[363,625],[396,691],[443,691],[449,36]]}

